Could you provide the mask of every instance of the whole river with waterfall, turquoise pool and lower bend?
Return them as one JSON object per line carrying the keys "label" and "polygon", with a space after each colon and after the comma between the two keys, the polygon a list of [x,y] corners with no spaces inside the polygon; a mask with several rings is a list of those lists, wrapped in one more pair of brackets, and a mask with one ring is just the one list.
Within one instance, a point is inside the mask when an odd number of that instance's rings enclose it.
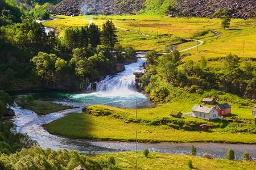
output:
{"label": "whole river with waterfall, turquoise pool and lower bend", "polygon": [[[53,120],[57,120],[66,114],[81,112],[86,105],[105,104],[120,108],[134,108],[137,101],[138,107],[150,107],[150,101],[146,95],[137,91],[135,87],[134,72],[144,71],[142,65],[145,62],[143,55],[138,54],[138,62],[126,65],[126,70],[108,75],[97,83],[97,91],[75,93],[43,92],[31,93],[35,99],[53,100],[56,103],[72,105],[78,107],[67,111],[38,116],[32,111],[20,108],[18,105],[13,107],[16,131],[27,133],[32,139],[38,141],[42,148],[51,147],[54,150],[67,148],[77,150],[81,153],[95,152],[119,152],[134,151],[135,143],[132,142],[99,142],[81,139],[69,139],[49,134],[43,125]],[[132,132],[131,132],[132,133]],[[168,152],[173,154],[191,154],[191,146],[197,148],[197,154],[212,154],[214,158],[225,158],[229,148],[233,148],[236,158],[240,159],[243,152],[249,152],[253,159],[256,159],[255,145],[225,144],[225,143],[138,143],[138,150],[149,148],[150,151]]]}

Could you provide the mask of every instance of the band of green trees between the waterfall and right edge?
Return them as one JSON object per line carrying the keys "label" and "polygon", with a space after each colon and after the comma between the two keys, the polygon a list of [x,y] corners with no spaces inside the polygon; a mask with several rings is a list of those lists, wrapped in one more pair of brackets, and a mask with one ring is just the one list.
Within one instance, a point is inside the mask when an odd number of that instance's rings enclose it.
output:
{"label": "band of green trees between the waterfall and right edge", "polygon": [[[147,72],[141,78],[140,86],[148,91],[158,91],[154,86],[156,79],[174,87],[181,87],[191,93],[203,94],[204,90],[216,89],[231,92],[247,99],[256,97],[255,67],[250,60],[234,54],[220,58],[218,69],[210,69],[204,57],[199,63],[192,60],[183,62],[178,51],[158,56],[156,52],[146,55]],[[168,89],[158,91],[159,100],[169,95]]]}

